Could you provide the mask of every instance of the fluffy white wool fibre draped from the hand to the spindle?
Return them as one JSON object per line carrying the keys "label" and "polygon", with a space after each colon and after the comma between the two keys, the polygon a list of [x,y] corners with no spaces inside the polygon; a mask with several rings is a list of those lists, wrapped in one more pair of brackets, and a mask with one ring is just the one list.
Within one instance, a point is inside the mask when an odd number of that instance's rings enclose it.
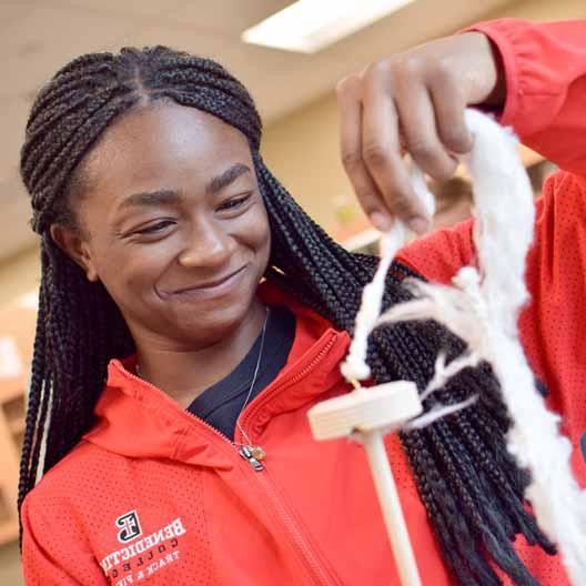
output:
{"label": "fluffy white wool fibre draped from the hand to the spindle", "polygon": [[[404,235],[401,224],[395,226],[395,235],[386,235],[392,245],[383,251],[374,291],[363,296],[358,313],[362,321],[356,323],[342,372],[348,380],[370,374],[364,367],[366,339],[382,323],[433,319],[467,342],[468,353],[447,366],[445,358],[438,357],[435,375],[422,397],[478,360],[492,364],[512,418],[508,451],[532,474],[525,496],[542,529],[558,545],[572,584],[582,586],[586,584],[586,492],[580,491],[572,474],[572,444],[559,433],[560,418],[547,410],[535,388],[517,331],[518,312],[528,300],[524,270],[533,239],[533,192],[514,134],[474,110],[467,110],[465,117],[474,137],[473,152],[464,162],[474,179],[474,244],[479,269],[461,269],[453,286],[411,280],[408,286],[415,299],[375,320],[384,274],[398,249],[396,240]],[[447,412],[464,406],[452,405]],[[445,414],[446,407],[438,407],[408,425],[426,425]]]}

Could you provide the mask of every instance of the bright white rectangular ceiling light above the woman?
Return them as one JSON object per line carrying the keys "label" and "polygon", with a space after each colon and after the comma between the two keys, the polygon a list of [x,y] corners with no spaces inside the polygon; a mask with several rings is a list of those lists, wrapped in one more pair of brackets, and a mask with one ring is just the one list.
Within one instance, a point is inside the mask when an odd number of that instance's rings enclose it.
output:
{"label": "bright white rectangular ceiling light above the woman", "polygon": [[413,0],[299,0],[245,30],[242,40],[314,53]]}

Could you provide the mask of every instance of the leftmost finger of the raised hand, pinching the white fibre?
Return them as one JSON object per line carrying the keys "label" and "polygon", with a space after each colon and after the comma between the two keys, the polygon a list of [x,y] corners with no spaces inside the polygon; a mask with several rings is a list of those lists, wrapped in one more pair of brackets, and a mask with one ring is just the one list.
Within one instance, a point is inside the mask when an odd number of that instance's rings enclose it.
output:
{"label": "leftmost finger of the raised hand, pinching the white fibre", "polygon": [[356,193],[358,203],[374,226],[381,231],[391,228],[388,213],[362,159],[361,81],[357,77],[342,80],[336,87],[340,155],[344,170]]}

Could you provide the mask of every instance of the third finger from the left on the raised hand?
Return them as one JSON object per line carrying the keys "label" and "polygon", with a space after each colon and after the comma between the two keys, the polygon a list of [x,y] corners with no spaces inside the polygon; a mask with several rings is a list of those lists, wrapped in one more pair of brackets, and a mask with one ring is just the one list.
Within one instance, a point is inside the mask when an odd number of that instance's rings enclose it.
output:
{"label": "third finger from the left on the raised hand", "polygon": [[440,140],[427,88],[418,78],[402,75],[396,80],[395,93],[411,156],[424,173],[437,181],[446,181],[456,171],[457,161]]}

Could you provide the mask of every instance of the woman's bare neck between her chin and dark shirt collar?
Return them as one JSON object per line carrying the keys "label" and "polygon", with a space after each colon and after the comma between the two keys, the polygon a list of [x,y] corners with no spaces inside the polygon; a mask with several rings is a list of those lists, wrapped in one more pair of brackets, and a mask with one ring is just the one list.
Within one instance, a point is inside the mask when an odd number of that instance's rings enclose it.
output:
{"label": "woman's bare neck between her chin and dark shirt collar", "polygon": [[186,407],[205,388],[230,374],[262,331],[266,309],[255,299],[233,332],[193,350],[152,339],[137,341],[140,376]]}

